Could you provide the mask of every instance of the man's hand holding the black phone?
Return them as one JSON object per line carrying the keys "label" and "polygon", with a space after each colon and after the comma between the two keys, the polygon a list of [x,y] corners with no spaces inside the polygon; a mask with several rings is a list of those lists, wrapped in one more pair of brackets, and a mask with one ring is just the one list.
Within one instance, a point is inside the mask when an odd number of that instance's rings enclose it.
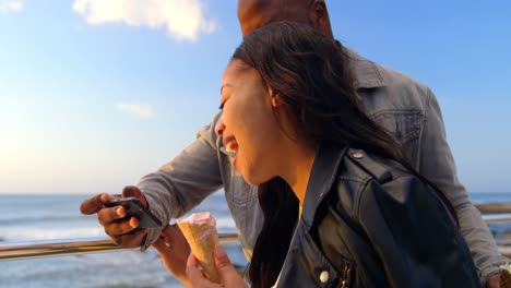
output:
{"label": "man's hand holding the black phone", "polygon": [[[100,193],[92,199],[87,199],[80,205],[82,214],[91,215],[97,213],[97,219],[105,228],[105,232],[119,245],[126,248],[140,247],[147,235],[148,229],[139,227],[136,217],[124,218],[126,209],[122,206],[105,207],[105,203],[119,195],[109,195]],[[145,207],[147,201],[136,187],[124,187],[122,197],[136,197]]]}

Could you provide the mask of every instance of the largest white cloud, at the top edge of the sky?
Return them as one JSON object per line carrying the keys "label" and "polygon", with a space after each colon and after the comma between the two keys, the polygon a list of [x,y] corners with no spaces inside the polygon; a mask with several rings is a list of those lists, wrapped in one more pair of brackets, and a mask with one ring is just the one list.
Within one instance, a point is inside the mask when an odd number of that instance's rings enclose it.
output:
{"label": "largest white cloud, at the top edge of the sky", "polygon": [[201,33],[211,34],[216,29],[216,23],[204,16],[203,2],[204,0],[75,0],[73,10],[91,25],[124,23],[129,26],[165,27],[179,41],[195,41]]}

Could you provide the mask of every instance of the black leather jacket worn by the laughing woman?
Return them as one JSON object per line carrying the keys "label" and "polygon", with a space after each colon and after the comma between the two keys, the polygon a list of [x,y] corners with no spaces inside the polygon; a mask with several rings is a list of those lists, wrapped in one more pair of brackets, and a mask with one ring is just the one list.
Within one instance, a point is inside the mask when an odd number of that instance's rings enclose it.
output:
{"label": "black leather jacket worn by the laughing woman", "polygon": [[438,194],[395,161],[321,145],[277,287],[479,287]]}

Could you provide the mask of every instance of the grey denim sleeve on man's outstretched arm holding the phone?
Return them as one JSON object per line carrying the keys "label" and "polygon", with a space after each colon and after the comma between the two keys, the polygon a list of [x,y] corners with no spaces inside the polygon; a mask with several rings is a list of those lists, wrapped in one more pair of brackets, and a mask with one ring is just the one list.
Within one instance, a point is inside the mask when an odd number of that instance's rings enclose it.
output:
{"label": "grey denim sleeve on man's outstretched arm holding the phone", "polygon": [[[144,176],[136,187],[142,191],[150,211],[164,225],[178,218],[222,188],[217,137],[214,125],[219,118],[199,130],[198,137],[171,161],[156,172]],[[142,250],[154,243],[164,227],[151,229]]]}

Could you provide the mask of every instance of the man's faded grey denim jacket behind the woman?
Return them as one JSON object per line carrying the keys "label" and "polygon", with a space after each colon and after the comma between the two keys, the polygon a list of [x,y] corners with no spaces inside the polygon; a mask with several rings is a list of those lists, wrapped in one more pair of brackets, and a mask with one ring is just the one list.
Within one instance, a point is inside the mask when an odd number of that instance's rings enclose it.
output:
{"label": "man's faded grey denim jacket behind the woman", "polygon": [[[498,252],[488,227],[457,180],[435,95],[407,75],[366,60],[354,51],[348,50],[348,55],[354,84],[366,112],[403,144],[415,168],[448,195],[484,284],[508,260]],[[222,139],[214,131],[218,118],[219,113],[199,130],[194,142],[158,171],[143,177],[138,187],[162,223],[182,216],[224,188],[241,245],[250,259],[262,227],[262,212],[257,188],[249,187],[233,170],[228,156],[219,149]],[[156,241],[159,232],[159,229],[151,230],[142,249]]]}

